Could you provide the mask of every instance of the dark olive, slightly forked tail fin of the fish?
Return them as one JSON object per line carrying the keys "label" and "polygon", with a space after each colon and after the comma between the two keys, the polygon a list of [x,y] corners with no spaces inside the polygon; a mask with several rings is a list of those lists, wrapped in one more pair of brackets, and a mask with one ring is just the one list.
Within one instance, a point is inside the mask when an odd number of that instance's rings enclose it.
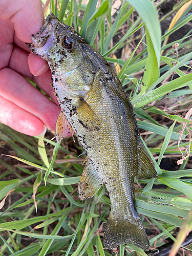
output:
{"label": "dark olive, slightly forked tail fin of the fish", "polygon": [[140,218],[134,220],[134,224],[131,219],[117,219],[110,214],[104,232],[104,247],[113,249],[120,244],[133,242],[135,246],[149,250],[150,243]]}

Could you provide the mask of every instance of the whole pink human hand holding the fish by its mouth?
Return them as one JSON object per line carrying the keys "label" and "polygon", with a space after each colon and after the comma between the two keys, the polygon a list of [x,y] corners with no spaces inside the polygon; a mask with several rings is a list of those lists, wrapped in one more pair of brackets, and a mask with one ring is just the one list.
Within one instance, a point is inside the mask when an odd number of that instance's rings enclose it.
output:
{"label": "whole pink human hand holding the fish by its mouth", "polygon": [[0,0],[0,4],[0,122],[27,135],[45,133],[44,124],[55,130],[60,110],[50,86],[51,72],[47,62],[29,55],[25,45],[44,24],[41,1]]}

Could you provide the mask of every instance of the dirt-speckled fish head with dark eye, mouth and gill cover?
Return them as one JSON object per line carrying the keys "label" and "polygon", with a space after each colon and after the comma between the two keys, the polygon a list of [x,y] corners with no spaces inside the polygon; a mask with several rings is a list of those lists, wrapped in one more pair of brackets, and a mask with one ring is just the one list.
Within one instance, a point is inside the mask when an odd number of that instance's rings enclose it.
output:
{"label": "dirt-speckled fish head with dark eye, mouth and gill cover", "polygon": [[72,27],[50,14],[31,39],[27,46],[48,62],[60,98],[84,97],[90,91],[95,72],[83,47],[86,41]]}

